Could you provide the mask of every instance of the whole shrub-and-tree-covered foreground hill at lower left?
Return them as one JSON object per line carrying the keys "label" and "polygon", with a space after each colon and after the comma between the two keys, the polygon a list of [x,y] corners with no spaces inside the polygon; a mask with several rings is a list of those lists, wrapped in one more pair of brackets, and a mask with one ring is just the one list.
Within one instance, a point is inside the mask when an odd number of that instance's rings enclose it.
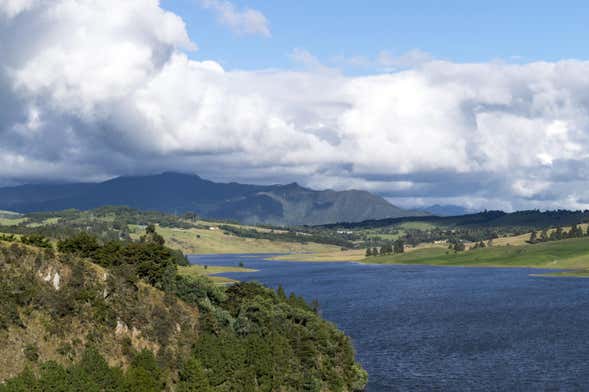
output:
{"label": "whole shrub-and-tree-covered foreground hill at lower left", "polygon": [[366,383],[349,338],[316,305],[257,283],[224,288],[180,276],[185,259],[153,226],[136,242],[78,233],[57,251],[0,241],[0,374],[8,379],[0,391],[352,391]]}

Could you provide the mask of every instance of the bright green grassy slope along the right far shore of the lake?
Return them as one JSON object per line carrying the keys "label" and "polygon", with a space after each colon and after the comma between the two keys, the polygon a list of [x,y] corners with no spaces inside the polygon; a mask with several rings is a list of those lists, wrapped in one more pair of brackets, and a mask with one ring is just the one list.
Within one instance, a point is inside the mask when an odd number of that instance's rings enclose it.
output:
{"label": "bright green grassy slope along the right far shore of the lake", "polygon": [[494,246],[454,253],[444,248],[425,248],[401,255],[363,260],[379,264],[428,264],[481,267],[533,267],[589,269],[589,238],[535,245]]}

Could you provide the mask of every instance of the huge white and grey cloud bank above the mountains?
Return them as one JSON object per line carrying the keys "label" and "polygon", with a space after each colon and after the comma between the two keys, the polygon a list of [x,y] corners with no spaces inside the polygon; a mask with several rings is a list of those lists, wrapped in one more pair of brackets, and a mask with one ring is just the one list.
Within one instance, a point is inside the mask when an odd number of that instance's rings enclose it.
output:
{"label": "huge white and grey cloud bank above the mountains", "polygon": [[347,77],[227,71],[195,48],[156,0],[0,1],[0,179],[181,170],[402,205],[589,208],[589,62],[422,56]]}

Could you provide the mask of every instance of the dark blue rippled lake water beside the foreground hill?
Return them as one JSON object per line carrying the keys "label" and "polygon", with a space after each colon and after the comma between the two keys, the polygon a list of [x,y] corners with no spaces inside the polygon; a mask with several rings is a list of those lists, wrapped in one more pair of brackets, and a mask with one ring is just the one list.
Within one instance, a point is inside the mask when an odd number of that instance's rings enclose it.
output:
{"label": "dark blue rippled lake water beside the foreground hill", "polygon": [[589,391],[589,280],[538,270],[292,263],[192,256],[259,269],[223,276],[318,299],[352,337],[377,391]]}

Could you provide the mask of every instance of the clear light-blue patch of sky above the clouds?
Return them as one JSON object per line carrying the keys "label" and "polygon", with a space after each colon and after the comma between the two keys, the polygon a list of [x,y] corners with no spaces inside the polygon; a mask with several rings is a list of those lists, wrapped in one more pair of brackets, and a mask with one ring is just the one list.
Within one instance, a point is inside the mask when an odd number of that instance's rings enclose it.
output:
{"label": "clear light-blue patch of sky above the clouds", "polygon": [[234,1],[266,16],[271,37],[238,35],[203,10],[199,0],[163,0],[187,23],[200,50],[227,69],[291,68],[296,48],[322,62],[354,69],[341,58],[375,58],[419,49],[454,62],[585,59],[589,48],[584,1]]}

